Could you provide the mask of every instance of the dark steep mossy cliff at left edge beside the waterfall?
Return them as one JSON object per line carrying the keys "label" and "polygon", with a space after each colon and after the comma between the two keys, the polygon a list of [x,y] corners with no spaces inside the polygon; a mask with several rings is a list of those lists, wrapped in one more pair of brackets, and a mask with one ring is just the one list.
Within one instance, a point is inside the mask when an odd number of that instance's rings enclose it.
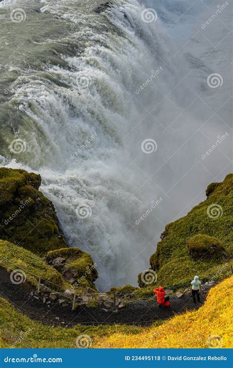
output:
{"label": "dark steep mossy cliff at left edge beside the waterfall", "polygon": [[40,184],[40,175],[0,168],[0,238],[37,254],[67,246]]}

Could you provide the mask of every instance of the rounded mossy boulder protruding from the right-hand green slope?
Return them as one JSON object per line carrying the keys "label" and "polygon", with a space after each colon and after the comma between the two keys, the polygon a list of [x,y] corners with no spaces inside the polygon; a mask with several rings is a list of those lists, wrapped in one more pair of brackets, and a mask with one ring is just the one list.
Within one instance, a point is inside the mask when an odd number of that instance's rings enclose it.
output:
{"label": "rounded mossy boulder protruding from the right-hand green slope", "polygon": [[225,252],[222,242],[216,237],[198,234],[187,241],[190,255],[194,260],[202,258],[219,258]]}

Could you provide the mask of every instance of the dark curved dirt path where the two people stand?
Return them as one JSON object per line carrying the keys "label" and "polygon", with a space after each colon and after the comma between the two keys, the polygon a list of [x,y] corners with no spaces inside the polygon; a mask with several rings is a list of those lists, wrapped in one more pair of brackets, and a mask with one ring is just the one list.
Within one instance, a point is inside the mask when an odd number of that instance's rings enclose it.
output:
{"label": "dark curved dirt path where the two people stand", "polygon": [[30,295],[32,288],[29,284],[12,284],[9,276],[6,270],[0,269],[0,296],[31,319],[53,326],[72,327],[79,323],[85,325],[124,323],[145,326],[155,320],[184,313],[186,310],[198,309],[204,302],[204,297],[201,297],[201,303],[195,305],[191,297],[182,296],[178,299],[172,295],[171,306],[168,308],[159,308],[157,302],[153,300],[129,303],[117,312],[113,309],[106,312],[102,307],[87,308],[86,306],[80,306],[72,311],[71,306],[61,307],[55,303],[50,307],[44,304],[40,298],[36,299]]}

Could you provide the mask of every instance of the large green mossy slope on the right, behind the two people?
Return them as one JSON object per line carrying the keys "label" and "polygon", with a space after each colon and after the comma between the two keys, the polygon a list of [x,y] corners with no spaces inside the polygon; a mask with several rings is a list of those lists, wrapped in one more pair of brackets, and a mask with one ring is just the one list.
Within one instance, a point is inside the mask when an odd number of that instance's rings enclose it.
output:
{"label": "large green mossy slope on the right, behind the two people", "polygon": [[[198,274],[211,278],[229,263],[233,250],[233,174],[223,183],[209,184],[207,199],[186,216],[167,225],[150,257],[157,273],[156,285],[172,286]],[[222,274],[224,276],[224,273]],[[220,275],[221,277],[221,275]],[[145,287],[139,275],[139,285]]]}

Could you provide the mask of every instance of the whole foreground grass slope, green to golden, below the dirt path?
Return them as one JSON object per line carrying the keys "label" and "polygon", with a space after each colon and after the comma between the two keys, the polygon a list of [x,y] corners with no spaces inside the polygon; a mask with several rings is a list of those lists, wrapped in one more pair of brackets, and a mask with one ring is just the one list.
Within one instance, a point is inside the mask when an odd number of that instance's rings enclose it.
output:
{"label": "whole foreground grass slope, green to golden, below the dirt path", "polygon": [[233,277],[211,289],[198,311],[175,316],[162,324],[158,321],[149,328],[77,325],[72,329],[32,321],[0,298],[0,347],[76,348],[76,339],[84,334],[90,337],[93,348],[204,348],[216,343],[229,348],[232,347],[232,298]]}

